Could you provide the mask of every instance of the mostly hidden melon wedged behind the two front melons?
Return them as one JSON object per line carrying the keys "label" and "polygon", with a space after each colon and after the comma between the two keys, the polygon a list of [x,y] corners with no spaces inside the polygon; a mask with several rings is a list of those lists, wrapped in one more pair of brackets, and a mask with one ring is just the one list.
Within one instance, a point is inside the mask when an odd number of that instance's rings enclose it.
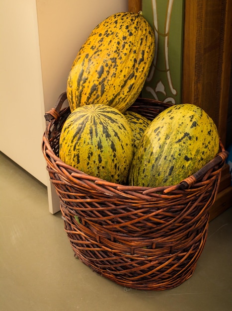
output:
{"label": "mostly hidden melon wedged behind the two front melons", "polygon": [[144,134],[144,131],[148,128],[151,120],[140,115],[137,112],[127,110],[124,112],[125,117],[127,118],[134,138],[134,152],[138,147],[138,144],[141,140],[141,137]]}

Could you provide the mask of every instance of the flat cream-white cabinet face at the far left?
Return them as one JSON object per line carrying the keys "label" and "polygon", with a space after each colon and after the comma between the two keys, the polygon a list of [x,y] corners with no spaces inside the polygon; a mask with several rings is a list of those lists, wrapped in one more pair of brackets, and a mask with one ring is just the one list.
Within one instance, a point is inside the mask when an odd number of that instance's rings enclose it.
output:
{"label": "flat cream-white cabinet face at the far left", "polygon": [[47,183],[36,3],[0,1],[0,151]]}

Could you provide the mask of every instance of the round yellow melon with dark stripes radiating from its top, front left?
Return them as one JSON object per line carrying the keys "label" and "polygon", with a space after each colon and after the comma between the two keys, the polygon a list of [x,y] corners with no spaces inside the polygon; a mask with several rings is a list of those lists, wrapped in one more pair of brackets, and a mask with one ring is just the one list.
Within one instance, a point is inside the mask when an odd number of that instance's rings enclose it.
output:
{"label": "round yellow melon with dark stripes radiating from its top, front left", "polygon": [[126,183],[133,156],[133,137],[126,117],[108,105],[75,109],[60,136],[60,158],[91,176]]}

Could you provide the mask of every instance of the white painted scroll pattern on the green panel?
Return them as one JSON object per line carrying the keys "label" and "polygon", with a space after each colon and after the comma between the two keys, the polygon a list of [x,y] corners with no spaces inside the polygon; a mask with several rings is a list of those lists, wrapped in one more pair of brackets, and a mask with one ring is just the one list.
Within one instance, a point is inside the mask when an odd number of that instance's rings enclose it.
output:
{"label": "white painted scroll pattern on the green panel", "polygon": [[[166,18],[164,21],[164,33],[159,32],[158,30],[158,16],[157,16],[157,3],[156,0],[152,0],[152,6],[153,6],[153,21],[154,21],[154,32],[155,32],[155,57],[154,61],[150,70],[149,77],[147,78],[147,81],[151,81],[152,78],[154,77],[155,70],[158,70],[156,68],[156,63],[157,63],[157,54],[158,54],[158,47],[159,47],[159,36],[164,37],[164,58],[165,58],[165,72],[167,75],[167,81],[168,81],[168,86],[171,91],[171,93],[175,96],[177,94],[176,89],[173,87],[172,79],[171,79],[171,72],[169,68],[169,60],[168,60],[168,39],[169,39],[169,29],[170,29],[170,20],[171,20],[171,12],[172,12],[172,4],[174,0],[168,0],[167,1],[167,10],[166,10]],[[150,92],[155,99],[158,100],[157,92],[161,92],[166,96],[166,91],[165,91],[165,85],[164,83],[159,80],[157,84],[155,85],[154,88],[150,86],[146,86],[146,90]],[[173,97],[166,97],[164,102],[172,102],[175,104],[175,99]]]}

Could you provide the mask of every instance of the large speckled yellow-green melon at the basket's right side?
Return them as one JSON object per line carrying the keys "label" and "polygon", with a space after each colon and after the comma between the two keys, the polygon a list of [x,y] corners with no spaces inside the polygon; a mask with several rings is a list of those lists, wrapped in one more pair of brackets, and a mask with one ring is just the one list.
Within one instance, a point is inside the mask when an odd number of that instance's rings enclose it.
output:
{"label": "large speckled yellow-green melon at the basket's right side", "polygon": [[162,111],[145,131],[132,161],[129,183],[158,187],[178,184],[219,152],[217,127],[193,104]]}

